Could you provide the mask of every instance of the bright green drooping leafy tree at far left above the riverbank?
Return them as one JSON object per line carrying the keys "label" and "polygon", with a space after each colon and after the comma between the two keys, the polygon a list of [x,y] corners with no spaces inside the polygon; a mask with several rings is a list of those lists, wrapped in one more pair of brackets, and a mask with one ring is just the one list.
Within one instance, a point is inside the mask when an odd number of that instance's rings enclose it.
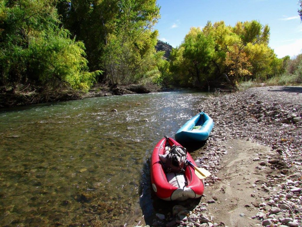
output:
{"label": "bright green drooping leafy tree at far left above the riverbank", "polygon": [[84,45],[59,27],[54,1],[2,0],[0,7],[2,85],[65,82],[88,89],[100,72],[88,72]]}

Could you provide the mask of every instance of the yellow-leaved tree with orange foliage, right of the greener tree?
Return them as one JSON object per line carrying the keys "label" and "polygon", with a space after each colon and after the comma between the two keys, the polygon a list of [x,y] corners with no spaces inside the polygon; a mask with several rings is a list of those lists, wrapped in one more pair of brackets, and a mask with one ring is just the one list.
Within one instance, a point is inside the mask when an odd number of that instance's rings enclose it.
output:
{"label": "yellow-leaved tree with orange foliage, right of the greener tree", "polygon": [[213,73],[218,77],[223,73],[230,74],[232,84],[236,84],[237,80],[266,78],[278,73],[280,61],[268,47],[268,25],[255,20],[239,21],[234,27],[226,26],[223,21],[214,25],[208,22],[203,31],[215,41],[212,62],[215,67]]}

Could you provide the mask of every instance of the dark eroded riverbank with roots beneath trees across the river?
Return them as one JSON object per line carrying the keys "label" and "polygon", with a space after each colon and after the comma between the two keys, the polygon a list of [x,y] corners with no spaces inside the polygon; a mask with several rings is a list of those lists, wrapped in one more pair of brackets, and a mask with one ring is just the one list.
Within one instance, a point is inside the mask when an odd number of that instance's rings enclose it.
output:
{"label": "dark eroded riverbank with roots beneath trees across the river", "polygon": [[27,106],[57,101],[80,100],[88,97],[103,97],[125,94],[146,94],[162,89],[154,84],[132,84],[111,87],[107,84],[96,84],[88,92],[74,90],[71,87],[35,87],[19,84],[15,89],[0,87],[0,110],[16,106]]}

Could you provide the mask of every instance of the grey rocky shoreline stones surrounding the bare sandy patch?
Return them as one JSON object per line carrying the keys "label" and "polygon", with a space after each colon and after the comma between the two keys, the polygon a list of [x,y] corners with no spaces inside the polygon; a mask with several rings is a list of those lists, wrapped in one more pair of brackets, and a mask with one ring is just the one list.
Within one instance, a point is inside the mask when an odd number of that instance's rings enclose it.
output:
{"label": "grey rocky shoreline stones surrounding the bare sandy patch", "polygon": [[[246,218],[260,226],[302,226],[301,100],[302,87],[274,86],[250,88],[203,101],[199,111],[209,114],[215,122],[207,143],[197,150],[202,155],[197,163],[212,173],[206,181],[205,193],[207,187],[222,180],[217,175],[221,171],[223,156],[228,154],[228,148],[223,144],[240,140],[269,146],[270,153],[263,156],[252,150],[254,157],[250,163],[256,164],[254,171],[267,175],[265,182],[257,189],[264,196],[255,198],[258,201],[253,202],[254,207],[251,208],[255,211],[254,215]],[[264,170],[266,172],[261,172]],[[257,188],[257,184],[256,181],[252,187]],[[254,197],[253,194],[251,196]],[[202,199],[191,211],[186,207],[175,207],[172,217],[165,219],[158,214],[160,218],[154,220],[152,226],[226,226],[221,217],[211,215],[209,205],[216,200],[208,198],[204,202]],[[240,216],[245,217],[245,214]]]}

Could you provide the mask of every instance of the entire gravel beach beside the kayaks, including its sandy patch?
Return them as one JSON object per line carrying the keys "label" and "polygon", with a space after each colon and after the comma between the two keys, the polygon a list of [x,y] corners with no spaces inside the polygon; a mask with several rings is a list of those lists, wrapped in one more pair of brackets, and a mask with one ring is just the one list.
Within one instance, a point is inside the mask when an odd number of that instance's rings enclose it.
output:
{"label": "entire gravel beach beside the kayaks, including its sandy patch", "polygon": [[302,226],[302,87],[256,87],[198,106],[214,120],[194,153],[208,169],[198,206],[153,226]]}

